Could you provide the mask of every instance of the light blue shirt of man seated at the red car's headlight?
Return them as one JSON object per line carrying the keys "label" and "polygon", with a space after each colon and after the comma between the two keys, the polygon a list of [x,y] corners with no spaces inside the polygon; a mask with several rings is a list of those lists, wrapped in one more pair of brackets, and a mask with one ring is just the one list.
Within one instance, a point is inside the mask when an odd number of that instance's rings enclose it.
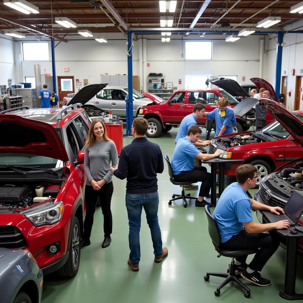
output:
{"label": "light blue shirt of man seated at the red car's headlight", "polygon": [[171,158],[171,167],[174,175],[179,175],[182,171],[193,170],[195,156],[198,154],[200,154],[200,151],[188,138],[179,139]]}

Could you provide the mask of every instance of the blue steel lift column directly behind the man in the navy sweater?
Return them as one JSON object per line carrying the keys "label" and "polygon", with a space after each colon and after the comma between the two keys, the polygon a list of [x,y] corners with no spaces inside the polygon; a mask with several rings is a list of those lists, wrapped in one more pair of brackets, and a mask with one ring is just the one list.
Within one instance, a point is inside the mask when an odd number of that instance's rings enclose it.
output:
{"label": "blue steel lift column directly behind the man in the navy sweater", "polygon": [[133,121],[133,83],[132,83],[132,31],[127,31],[127,75],[128,75],[128,100],[126,103],[126,135],[132,134]]}

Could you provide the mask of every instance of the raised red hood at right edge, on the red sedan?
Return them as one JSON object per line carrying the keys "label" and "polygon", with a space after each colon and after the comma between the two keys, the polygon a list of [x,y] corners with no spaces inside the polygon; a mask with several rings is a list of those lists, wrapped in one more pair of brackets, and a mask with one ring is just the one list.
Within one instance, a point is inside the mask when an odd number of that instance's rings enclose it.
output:
{"label": "raised red hood at right edge, on the red sedan", "polygon": [[303,123],[278,102],[260,99],[260,103],[303,146]]}

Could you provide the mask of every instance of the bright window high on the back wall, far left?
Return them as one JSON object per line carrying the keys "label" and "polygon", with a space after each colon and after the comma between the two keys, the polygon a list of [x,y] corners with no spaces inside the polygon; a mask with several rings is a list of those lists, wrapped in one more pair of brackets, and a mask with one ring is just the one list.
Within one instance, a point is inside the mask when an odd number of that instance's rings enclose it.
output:
{"label": "bright window high on the back wall, far left", "polygon": [[24,61],[49,60],[48,42],[23,42],[22,48]]}

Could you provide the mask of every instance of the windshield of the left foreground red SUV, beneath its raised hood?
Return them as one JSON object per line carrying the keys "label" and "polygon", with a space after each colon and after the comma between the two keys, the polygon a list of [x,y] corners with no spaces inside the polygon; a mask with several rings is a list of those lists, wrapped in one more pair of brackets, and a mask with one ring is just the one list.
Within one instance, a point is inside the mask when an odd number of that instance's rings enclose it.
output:
{"label": "windshield of the left foreground red SUV, beneath its raised hood", "polygon": [[59,168],[63,167],[63,162],[49,157],[31,154],[0,154],[0,165],[23,165],[35,166],[39,168]]}

